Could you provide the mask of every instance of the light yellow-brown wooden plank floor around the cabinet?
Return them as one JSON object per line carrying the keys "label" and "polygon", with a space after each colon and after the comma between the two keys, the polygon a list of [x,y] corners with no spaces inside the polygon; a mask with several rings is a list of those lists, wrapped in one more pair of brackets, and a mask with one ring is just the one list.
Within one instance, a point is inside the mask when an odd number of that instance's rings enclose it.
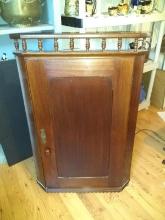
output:
{"label": "light yellow-brown wooden plank floor around the cabinet", "polygon": [[[155,109],[141,111],[137,129],[155,131],[165,123]],[[131,181],[120,193],[45,193],[36,183],[32,158],[0,166],[0,220],[165,220],[163,153],[136,135]]]}

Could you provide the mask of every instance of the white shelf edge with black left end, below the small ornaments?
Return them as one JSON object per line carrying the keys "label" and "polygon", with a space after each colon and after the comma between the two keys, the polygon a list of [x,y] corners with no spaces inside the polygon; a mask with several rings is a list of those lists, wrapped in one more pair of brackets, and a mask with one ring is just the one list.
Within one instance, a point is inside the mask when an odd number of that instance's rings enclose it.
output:
{"label": "white shelf edge with black left end, below the small ornaments", "polygon": [[68,17],[61,16],[62,25],[77,28],[103,28],[119,25],[131,25],[147,22],[162,21],[165,19],[165,12],[152,12],[151,14],[129,14],[126,16],[109,16],[108,14],[93,17]]}

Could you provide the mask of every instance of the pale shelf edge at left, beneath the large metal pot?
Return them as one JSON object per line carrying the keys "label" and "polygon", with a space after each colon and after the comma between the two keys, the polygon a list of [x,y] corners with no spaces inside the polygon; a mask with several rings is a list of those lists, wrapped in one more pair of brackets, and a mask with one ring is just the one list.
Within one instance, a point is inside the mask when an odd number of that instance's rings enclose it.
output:
{"label": "pale shelf edge at left, beneath the large metal pot", "polygon": [[0,35],[4,34],[16,34],[16,33],[31,33],[40,31],[50,31],[54,30],[53,25],[40,24],[31,27],[10,27],[8,25],[0,25]]}

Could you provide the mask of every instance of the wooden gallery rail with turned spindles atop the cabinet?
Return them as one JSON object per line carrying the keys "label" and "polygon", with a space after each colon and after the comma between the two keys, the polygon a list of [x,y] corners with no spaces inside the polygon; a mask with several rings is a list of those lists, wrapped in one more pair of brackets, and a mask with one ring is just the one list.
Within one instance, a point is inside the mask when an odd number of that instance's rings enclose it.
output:
{"label": "wooden gallery rail with turned spindles atop the cabinet", "polygon": [[[32,52],[28,50],[28,40],[37,40],[38,48],[37,52],[46,52],[43,47],[44,40],[53,40],[52,51],[51,52],[64,52],[65,48],[60,50],[59,40],[68,40],[69,49],[67,52],[80,52],[75,51],[75,40],[83,39],[84,42],[84,51],[91,51],[91,41],[94,39],[101,40],[100,49],[94,50],[94,52],[119,52],[127,51],[129,53],[137,51],[148,51],[150,49],[151,35],[149,33],[140,33],[140,32],[105,32],[105,33],[63,33],[63,34],[28,34],[28,35],[11,35],[11,39],[14,40],[14,45],[16,52]],[[116,40],[116,48],[109,48],[107,46],[107,40]],[[125,42],[127,40],[127,43]],[[21,41],[21,43],[20,43]],[[132,43],[132,48],[130,49],[129,43]],[[20,49],[20,44],[22,48]],[[127,45],[126,45],[127,44]],[[126,49],[123,49],[123,45],[126,46]],[[93,51],[93,50],[92,50]],[[35,51],[36,52],[36,51]],[[50,53],[50,51],[49,51]]]}

